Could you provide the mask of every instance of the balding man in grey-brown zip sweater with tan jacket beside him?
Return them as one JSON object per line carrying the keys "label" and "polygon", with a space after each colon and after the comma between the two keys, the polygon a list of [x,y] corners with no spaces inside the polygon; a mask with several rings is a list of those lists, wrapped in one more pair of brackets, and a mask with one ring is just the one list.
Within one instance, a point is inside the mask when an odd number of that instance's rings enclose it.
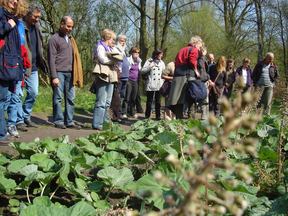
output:
{"label": "balding man in grey-brown zip sweater with tan jacket beside him", "polygon": [[[81,129],[74,123],[75,85],[83,84],[83,71],[80,55],[74,38],[70,35],[73,20],[63,17],[60,28],[48,41],[48,64],[53,90],[53,122],[56,128]],[[65,101],[64,115],[61,101]]]}

